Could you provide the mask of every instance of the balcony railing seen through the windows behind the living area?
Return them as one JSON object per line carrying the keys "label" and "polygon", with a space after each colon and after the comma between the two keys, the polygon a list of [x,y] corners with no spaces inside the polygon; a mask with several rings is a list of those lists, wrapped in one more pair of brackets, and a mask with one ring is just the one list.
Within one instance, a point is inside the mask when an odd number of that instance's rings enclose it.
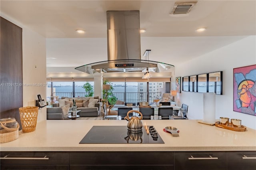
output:
{"label": "balcony railing seen through the windows behind the living area", "polygon": [[[75,97],[84,97],[86,94],[85,92],[75,93]],[[126,96],[124,96],[126,94]],[[72,92],[54,92],[54,96],[61,97],[73,97]],[[113,96],[115,96],[120,101],[130,102],[130,103],[137,103],[142,101],[147,101],[147,92],[114,92]],[[159,98],[160,92],[149,92],[148,102],[153,103],[153,100]],[[125,97],[125,99],[124,99]]]}

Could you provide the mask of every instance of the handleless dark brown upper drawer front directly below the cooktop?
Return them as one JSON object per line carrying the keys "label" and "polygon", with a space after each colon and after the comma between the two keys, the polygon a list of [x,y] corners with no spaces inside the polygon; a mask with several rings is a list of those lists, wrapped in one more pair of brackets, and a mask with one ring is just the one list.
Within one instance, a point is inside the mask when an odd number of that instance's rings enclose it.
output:
{"label": "handleless dark brown upper drawer front directly below the cooktop", "polygon": [[70,152],[70,165],[173,165],[174,152]]}

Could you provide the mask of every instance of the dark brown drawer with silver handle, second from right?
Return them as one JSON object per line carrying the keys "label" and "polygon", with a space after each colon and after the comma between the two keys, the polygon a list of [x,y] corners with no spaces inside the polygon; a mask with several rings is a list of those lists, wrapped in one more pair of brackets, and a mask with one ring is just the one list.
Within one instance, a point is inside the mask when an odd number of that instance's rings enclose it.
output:
{"label": "dark brown drawer with silver handle, second from right", "polygon": [[176,170],[226,170],[226,152],[175,152]]}

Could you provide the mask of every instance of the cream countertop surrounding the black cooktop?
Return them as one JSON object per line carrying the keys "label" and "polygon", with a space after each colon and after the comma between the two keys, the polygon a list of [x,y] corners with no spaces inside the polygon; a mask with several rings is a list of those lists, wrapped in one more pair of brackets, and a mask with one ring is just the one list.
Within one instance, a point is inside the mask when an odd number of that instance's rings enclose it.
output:
{"label": "cream countertop surrounding the black cooktop", "polygon": [[[164,144],[79,144],[92,126],[127,125],[125,120],[47,120],[34,132],[22,132],[18,139],[0,144],[1,151],[239,151],[256,150],[256,130],[237,132],[198,123],[197,120],[143,120],[153,125]],[[163,131],[172,126],[179,137]]]}

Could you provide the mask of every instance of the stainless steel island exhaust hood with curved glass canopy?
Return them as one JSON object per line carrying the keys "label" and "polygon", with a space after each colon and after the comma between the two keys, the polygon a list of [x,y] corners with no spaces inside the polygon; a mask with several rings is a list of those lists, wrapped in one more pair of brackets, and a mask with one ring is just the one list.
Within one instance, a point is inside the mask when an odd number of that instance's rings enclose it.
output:
{"label": "stainless steel island exhaust hood with curved glass canopy", "polygon": [[108,60],[75,69],[93,74],[124,72],[168,72],[174,65],[140,57],[140,11],[107,11]]}

